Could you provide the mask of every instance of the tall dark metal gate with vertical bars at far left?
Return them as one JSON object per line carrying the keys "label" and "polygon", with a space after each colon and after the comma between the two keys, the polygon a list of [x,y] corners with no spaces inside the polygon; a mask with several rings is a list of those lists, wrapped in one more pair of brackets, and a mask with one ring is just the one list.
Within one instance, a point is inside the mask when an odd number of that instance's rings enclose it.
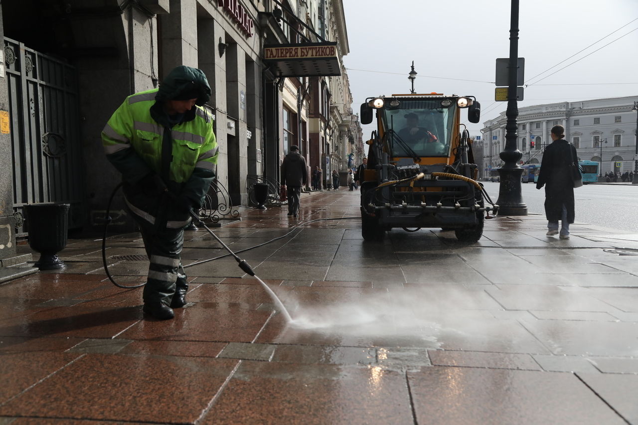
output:
{"label": "tall dark metal gate with vertical bars at far left", "polygon": [[83,168],[75,68],[9,38],[4,38],[4,63],[16,235],[28,232],[24,205],[40,202],[71,204],[69,228],[81,227]]}

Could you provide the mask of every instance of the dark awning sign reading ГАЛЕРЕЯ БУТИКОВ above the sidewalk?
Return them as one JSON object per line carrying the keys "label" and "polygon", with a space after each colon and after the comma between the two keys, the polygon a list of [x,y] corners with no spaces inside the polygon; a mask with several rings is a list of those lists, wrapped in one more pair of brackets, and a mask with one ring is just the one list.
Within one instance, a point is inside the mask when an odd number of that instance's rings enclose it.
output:
{"label": "dark awning sign reading \u0413\u0410\u041b\u0415\u0420\u0415\u042f \u0411\u0423\u0422\u0418\u041a\u041e\u0412 above the sidewalk", "polygon": [[263,61],[281,77],[341,75],[337,43],[278,44],[264,46]]}

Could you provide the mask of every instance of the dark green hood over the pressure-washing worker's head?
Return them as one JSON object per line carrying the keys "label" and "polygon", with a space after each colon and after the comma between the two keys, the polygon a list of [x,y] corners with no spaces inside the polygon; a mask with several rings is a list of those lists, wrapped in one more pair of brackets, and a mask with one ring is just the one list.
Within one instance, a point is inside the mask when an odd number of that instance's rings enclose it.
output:
{"label": "dark green hood over the pressure-washing worker's head", "polygon": [[211,86],[208,84],[204,71],[183,65],[174,68],[162,80],[155,100],[175,100],[184,93],[197,94],[195,105],[198,106],[203,106],[211,98]]}

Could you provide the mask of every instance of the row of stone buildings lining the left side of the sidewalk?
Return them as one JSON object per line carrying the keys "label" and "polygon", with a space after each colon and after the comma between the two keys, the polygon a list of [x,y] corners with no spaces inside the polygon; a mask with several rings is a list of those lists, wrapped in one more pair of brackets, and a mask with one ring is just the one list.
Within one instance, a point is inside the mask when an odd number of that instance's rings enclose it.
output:
{"label": "row of stone buildings lining the left side of the sidewalk", "polygon": [[[100,230],[121,179],[101,130],[178,65],[211,85],[224,202],[250,205],[251,184],[276,184],[291,145],[324,177],[360,163],[343,0],[4,1],[0,22],[0,258],[29,231],[28,204],[70,204],[71,229]],[[133,230],[114,203],[112,231]]]}

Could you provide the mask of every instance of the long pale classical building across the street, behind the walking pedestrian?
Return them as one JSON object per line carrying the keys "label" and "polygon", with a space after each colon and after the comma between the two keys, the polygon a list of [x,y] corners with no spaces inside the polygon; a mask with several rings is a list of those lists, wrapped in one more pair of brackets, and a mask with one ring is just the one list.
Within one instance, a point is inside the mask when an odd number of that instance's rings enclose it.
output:
{"label": "long pale classical building across the street, behind the walking pedestrian", "polygon": [[[517,147],[526,163],[540,163],[545,146],[551,144],[551,128],[565,127],[565,138],[577,149],[579,160],[602,163],[601,172],[634,170],[637,96],[547,103],[519,108]],[[499,153],[505,148],[505,112],[484,122],[480,143],[480,177],[489,179],[501,167]]]}

